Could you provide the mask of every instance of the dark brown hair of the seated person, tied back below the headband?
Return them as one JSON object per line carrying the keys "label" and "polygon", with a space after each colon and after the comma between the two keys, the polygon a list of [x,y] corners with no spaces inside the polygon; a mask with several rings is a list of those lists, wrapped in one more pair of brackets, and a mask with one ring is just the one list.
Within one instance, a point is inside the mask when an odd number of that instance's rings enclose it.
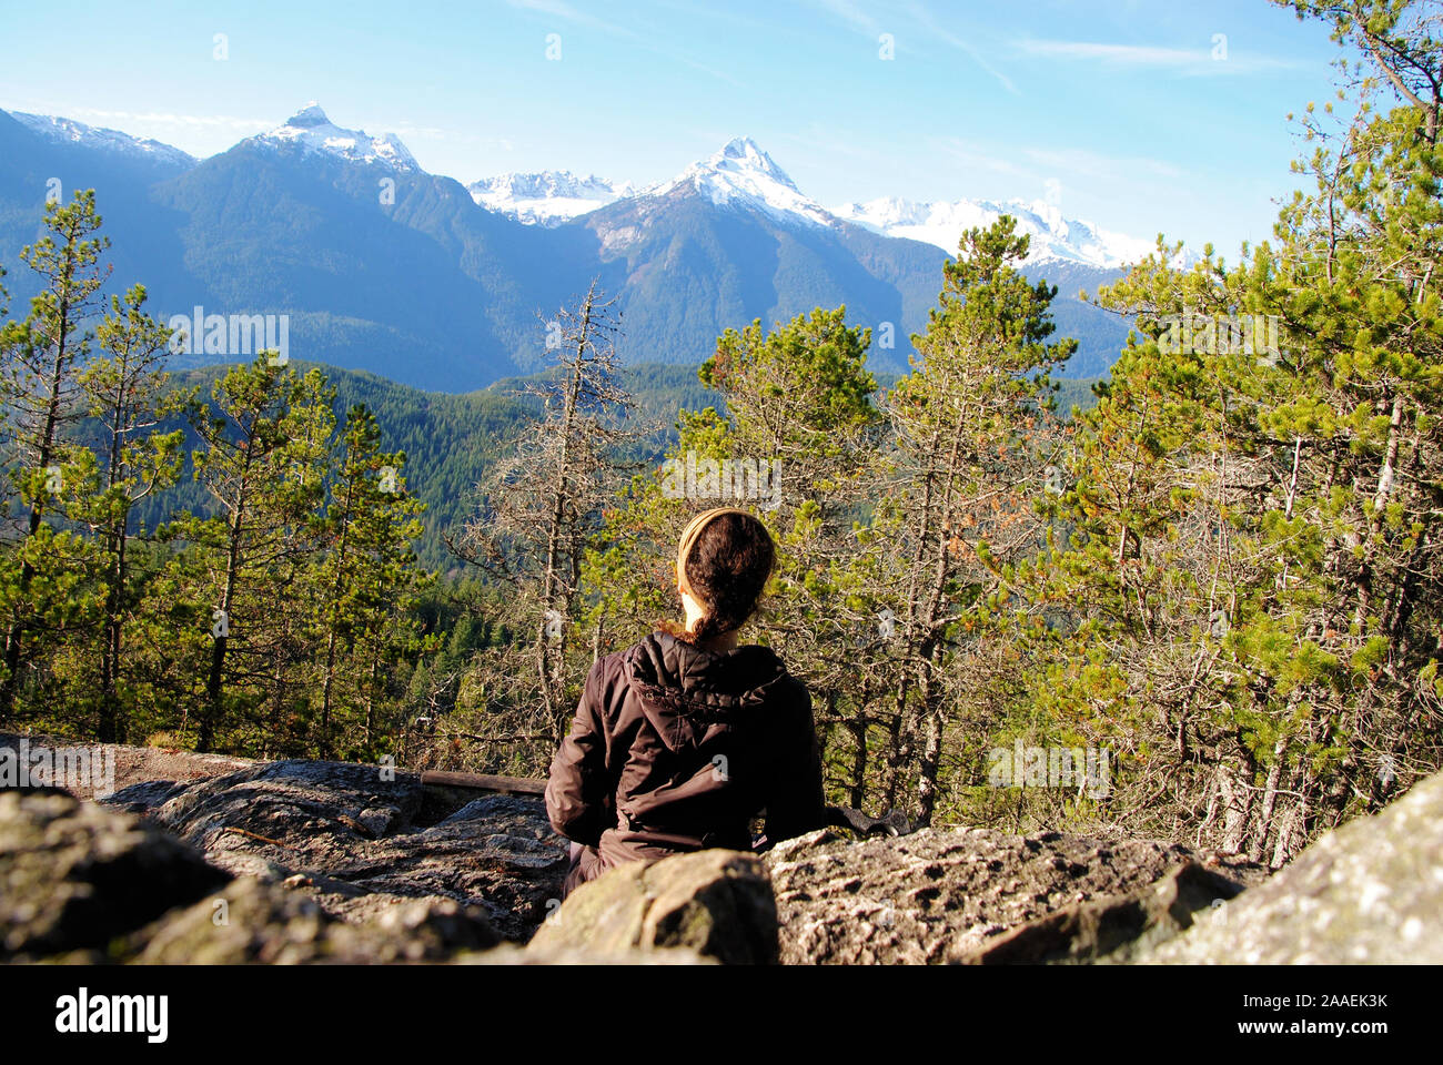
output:
{"label": "dark brown hair of the seated person, tied back below the headband", "polygon": [[662,628],[688,644],[742,628],[756,610],[775,560],[772,534],[750,514],[727,511],[711,518],[685,560],[687,587],[706,613],[690,632],[681,625]]}

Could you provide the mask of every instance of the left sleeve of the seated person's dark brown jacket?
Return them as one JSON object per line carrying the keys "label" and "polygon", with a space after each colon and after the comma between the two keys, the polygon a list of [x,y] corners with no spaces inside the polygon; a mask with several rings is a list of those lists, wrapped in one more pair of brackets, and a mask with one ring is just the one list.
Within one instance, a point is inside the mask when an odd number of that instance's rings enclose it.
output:
{"label": "left sleeve of the seated person's dark brown jacket", "polygon": [[600,659],[586,674],[571,730],[551,759],[545,785],[545,811],[551,827],[569,840],[590,847],[597,846],[602,831],[612,827],[606,823],[613,798],[606,768],[603,665],[605,659]]}

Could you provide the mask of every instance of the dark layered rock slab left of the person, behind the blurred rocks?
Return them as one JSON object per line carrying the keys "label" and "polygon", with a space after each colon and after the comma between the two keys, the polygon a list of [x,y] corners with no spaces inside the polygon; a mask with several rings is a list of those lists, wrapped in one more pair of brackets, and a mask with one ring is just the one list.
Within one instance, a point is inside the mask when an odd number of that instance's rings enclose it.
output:
{"label": "dark layered rock slab left of the person, behind the blurred rocks", "polygon": [[447,812],[429,808],[417,773],[380,766],[266,762],[179,789],[131,785],[107,802],[146,812],[221,869],[306,893],[348,921],[449,899],[524,941],[566,876],[566,841],[538,801],[486,795]]}

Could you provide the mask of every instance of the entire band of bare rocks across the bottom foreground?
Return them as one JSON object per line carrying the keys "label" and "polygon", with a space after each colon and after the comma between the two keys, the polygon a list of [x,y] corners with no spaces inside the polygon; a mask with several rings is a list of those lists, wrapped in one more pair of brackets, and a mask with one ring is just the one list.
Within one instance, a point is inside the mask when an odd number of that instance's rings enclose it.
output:
{"label": "entire band of bare rocks across the bottom foreground", "polygon": [[176,768],[100,802],[0,791],[0,961],[1443,961],[1443,776],[1273,877],[1156,840],[827,828],[623,866],[563,905],[566,841],[535,797],[335,762]]}

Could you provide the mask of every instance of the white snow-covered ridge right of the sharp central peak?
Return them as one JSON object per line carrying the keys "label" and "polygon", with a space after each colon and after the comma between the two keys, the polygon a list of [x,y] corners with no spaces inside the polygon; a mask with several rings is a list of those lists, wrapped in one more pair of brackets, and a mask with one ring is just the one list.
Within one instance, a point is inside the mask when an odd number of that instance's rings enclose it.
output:
{"label": "white snow-covered ridge right of the sharp central peak", "polygon": [[1154,241],[1100,229],[1091,222],[1063,218],[1056,205],[1045,201],[958,199],[918,203],[883,196],[866,203],[843,203],[838,218],[866,227],[883,237],[906,237],[935,244],[951,255],[965,229],[986,228],[1000,215],[1017,219],[1017,229],[1032,237],[1029,263],[1061,260],[1081,266],[1114,270],[1136,263],[1153,251]]}

